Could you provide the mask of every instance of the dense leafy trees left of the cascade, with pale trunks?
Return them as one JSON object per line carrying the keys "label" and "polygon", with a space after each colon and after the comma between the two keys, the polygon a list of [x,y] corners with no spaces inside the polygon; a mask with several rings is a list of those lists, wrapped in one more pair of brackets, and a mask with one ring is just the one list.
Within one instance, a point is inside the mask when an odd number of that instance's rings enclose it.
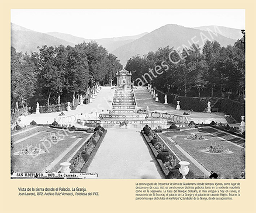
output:
{"label": "dense leafy trees left of the cascade, with pale trunks", "polygon": [[11,47],[11,106],[72,102],[97,83],[109,85],[122,69],[117,57],[95,41],[39,48],[31,55]]}

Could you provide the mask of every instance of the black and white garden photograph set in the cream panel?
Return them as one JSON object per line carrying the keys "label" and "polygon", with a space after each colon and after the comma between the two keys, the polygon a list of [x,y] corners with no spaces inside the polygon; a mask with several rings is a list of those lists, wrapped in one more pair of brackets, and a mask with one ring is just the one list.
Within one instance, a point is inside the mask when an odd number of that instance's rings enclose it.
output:
{"label": "black and white garden photograph set in the cream panel", "polygon": [[12,179],[245,179],[245,9],[11,9]]}

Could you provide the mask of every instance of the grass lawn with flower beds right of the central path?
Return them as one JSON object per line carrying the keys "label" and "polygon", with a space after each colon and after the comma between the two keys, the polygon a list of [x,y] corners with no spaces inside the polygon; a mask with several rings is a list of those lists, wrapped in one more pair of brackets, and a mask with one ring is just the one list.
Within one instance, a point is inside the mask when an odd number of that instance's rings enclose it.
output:
{"label": "grass lawn with flower beds right of the central path", "polygon": [[[168,140],[171,137],[176,144],[181,146],[186,152],[195,158],[205,169],[209,172],[214,171],[220,175],[222,179],[240,179],[241,171],[245,169],[245,151],[239,146],[234,145],[232,142],[221,140],[219,134],[217,136],[207,134],[203,128],[193,131],[182,131],[182,132],[165,132],[162,134],[165,141],[177,151],[175,144]],[[197,133],[203,135],[207,141],[191,141],[185,140],[186,135],[191,133]],[[226,137],[227,138],[227,137]],[[229,136],[230,140],[233,141],[233,136]],[[205,153],[202,152],[210,145],[222,145],[225,148],[230,149],[233,153],[220,154],[220,153]],[[181,155],[181,153],[179,153]]]}

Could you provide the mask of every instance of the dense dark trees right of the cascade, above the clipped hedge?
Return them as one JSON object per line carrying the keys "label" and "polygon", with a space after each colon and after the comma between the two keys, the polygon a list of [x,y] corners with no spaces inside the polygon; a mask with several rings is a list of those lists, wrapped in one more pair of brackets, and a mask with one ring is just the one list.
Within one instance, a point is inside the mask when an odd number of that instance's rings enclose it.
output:
{"label": "dense dark trees right of the cascade, above the clipped hedge", "polygon": [[177,51],[169,46],[127,61],[135,85],[151,83],[165,93],[181,96],[226,97],[243,102],[245,50],[240,40],[221,47],[206,41]]}

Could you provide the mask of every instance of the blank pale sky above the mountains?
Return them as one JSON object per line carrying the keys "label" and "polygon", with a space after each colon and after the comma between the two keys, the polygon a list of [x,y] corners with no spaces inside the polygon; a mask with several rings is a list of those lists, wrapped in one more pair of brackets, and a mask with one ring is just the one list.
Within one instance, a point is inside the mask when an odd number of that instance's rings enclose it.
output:
{"label": "blank pale sky above the mountains", "polygon": [[101,39],[152,32],[167,24],[245,29],[244,9],[12,9],[11,22],[37,32]]}

